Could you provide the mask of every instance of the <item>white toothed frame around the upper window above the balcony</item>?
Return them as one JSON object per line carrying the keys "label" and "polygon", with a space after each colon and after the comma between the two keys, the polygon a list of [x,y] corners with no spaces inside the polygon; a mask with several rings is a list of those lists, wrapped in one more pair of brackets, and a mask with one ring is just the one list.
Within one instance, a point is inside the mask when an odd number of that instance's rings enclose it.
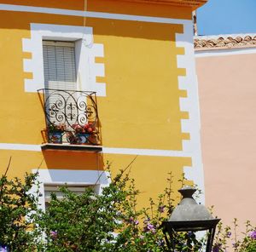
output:
{"label": "white toothed frame around the upper window above the balcony", "polygon": [[95,91],[106,96],[106,84],[97,83],[96,77],[105,76],[104,64],[96,63],[96,57],[103,57],[103,45],[93,42],[92,27],[31,24],[31,38],[22,39],[24,52],[32,59],[23,60],[24,72],[32,72],[32,79],[25,79],[25,91],[37,92],[44,89],[43,40],[75,42],[78,90]]}

